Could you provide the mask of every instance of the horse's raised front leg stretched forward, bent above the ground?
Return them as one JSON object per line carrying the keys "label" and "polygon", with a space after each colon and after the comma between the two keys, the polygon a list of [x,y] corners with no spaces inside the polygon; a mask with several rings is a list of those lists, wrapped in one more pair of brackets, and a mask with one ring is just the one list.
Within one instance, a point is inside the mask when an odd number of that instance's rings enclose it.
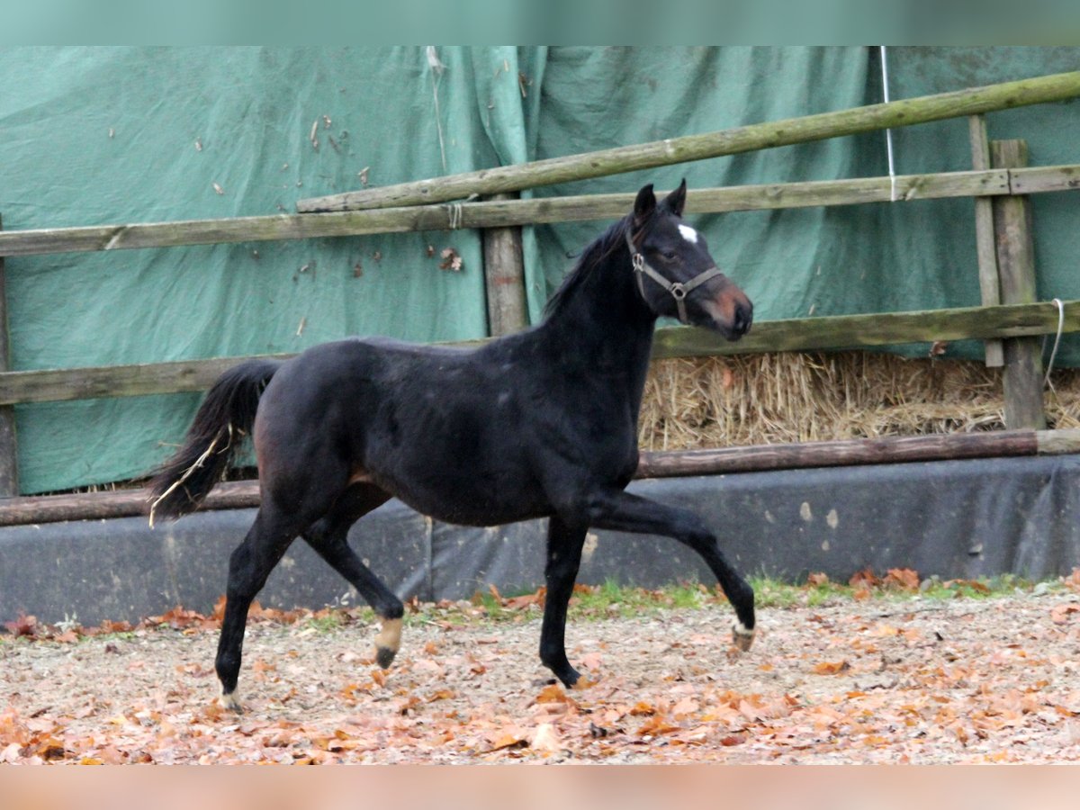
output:
{"label": "horse's raised front leg stretched forward, bent above the ground", "polygon": [[728,563],[716,537],[698,515],[621,489],[593,494],[589,499],[588,514],[589,525],[595,528],[664,535],[698,552],[734,608],[738,617],[731,629],[734,645],[741,650],[750,649],[754,643],[754,589]]}

